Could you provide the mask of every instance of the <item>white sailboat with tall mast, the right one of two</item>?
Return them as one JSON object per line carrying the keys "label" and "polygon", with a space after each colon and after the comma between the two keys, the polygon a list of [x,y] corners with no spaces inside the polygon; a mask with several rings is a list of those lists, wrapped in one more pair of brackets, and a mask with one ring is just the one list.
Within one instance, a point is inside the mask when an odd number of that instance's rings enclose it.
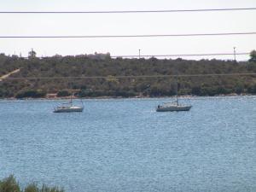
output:
{"label": "white sailboat with tall mast, the right one of two", "polygon": [[157,112],[173,112],[173,111],[189,111],[192,108],[192,105],[182,104],[178,101],[177,96],[177,80],[175,86],[175,101],[174,102],[164,102],[162,105],[158,105],[156,108]]}

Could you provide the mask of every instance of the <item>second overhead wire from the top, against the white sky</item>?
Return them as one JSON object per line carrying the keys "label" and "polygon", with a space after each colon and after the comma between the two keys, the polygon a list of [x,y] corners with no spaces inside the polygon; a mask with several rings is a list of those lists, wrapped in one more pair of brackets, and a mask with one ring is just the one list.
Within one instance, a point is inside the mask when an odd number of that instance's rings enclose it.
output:
{"label": "second overhead wire from the top, against the white sky", "polygon": [[143,34],[143,35],[67,35],[67,36],[0,36],[0,38],[164,38],[164,37],[195,37],[195,36],[231,36],[255,35],[256,32],[217,32],[188,34]]}

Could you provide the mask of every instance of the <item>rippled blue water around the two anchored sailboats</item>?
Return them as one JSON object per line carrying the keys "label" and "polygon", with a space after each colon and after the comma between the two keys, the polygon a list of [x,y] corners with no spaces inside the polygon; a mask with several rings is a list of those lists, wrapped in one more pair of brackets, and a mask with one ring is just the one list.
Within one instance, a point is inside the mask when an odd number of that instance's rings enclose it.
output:
{"label": "rippled blue water around the two anchored sailboats", "polygon": [[155,112],[169,100],[86,99],[83,113],[53,113],[60,100],[2,100],[0,179],[67,192],[256,191],[256,97]]}

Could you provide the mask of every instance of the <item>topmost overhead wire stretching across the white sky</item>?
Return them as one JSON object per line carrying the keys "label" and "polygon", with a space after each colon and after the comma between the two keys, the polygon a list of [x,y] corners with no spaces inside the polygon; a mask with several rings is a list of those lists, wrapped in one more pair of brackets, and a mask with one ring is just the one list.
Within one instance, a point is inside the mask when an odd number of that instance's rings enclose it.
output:
{"label": "topmost overhead wire stretching across the white sky", "polygon": [[240,11],[240,10],[255,10],[255,9],[256,8],[109,10],[109,11],[0,11],[0,14],[144,14],[144,13]]}

